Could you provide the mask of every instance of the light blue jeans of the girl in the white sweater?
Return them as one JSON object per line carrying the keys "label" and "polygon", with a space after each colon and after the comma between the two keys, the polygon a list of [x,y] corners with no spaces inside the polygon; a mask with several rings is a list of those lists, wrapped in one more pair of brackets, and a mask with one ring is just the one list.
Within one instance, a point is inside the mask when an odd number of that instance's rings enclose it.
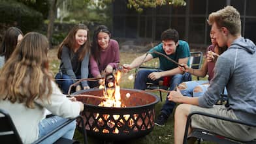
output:
{"label": "light blue jeans of the girl in the white sweater", "polygon": [[[49,132],[52,132],[52,130],[56,129],[59,125],[63,124],[63,122],[67,120],[68,119],[61,118],[58,116],[53,116],[53,117],[43,119],[39,123],[39,138],[42,136],[45,136]],[[76,121],[73,121],[67,124],[67,126],[61,128],[61,130],[57,131],[52,136],[44,139],[44,141],[42,141],[41,143],[46,143],[46,144],[54,143],[60,137],[64,137],[66,139],[73,139],[75,129],[76,129]]]}

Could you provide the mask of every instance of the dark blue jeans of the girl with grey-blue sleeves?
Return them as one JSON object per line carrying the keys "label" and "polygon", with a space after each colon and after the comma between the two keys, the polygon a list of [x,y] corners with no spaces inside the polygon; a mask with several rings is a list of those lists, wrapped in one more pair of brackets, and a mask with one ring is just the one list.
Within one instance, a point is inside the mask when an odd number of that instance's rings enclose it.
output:
{"label": "dark blue jeans of the girl with grey-blue sleeves", "polygon": [[[80,79],[81,76],[76,76],[77,79]],[[68,94],[69,87],[74,83],[74,81],[66,74],[57,73],[55,79],[65,79],[65,80],[56,80],[57,85],[61,89],[63,94]],[[71,89],[71,93],[74,92],[74,87]]]}

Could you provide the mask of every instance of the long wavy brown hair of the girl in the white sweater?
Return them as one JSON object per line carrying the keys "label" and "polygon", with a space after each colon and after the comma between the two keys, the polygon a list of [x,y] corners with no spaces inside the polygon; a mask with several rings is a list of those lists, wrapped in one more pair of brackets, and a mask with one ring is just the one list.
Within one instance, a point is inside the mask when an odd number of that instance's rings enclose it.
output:
{"label": "long wavy brown hair of the girl in the white sweater", "polygon": [[1,69],[0,100],[24,102],[27,108],[34,108],[37,98],[49,100],[52,75],[48,72],[47,53],[46,36],[27,33]]}

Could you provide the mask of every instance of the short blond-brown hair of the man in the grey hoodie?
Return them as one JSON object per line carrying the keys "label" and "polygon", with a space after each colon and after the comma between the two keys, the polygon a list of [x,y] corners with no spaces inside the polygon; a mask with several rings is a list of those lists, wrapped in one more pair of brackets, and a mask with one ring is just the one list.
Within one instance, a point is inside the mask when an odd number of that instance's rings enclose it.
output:
{"label": "short blond-brown hair of the man in the grey hoodie", "polygon": [[212,12],[208,17],[209,25],[216,23],[217,27],[226,27],[231,35],[240,35],[241,20],[240,14],[236,8],[227,6],[217,12]]}

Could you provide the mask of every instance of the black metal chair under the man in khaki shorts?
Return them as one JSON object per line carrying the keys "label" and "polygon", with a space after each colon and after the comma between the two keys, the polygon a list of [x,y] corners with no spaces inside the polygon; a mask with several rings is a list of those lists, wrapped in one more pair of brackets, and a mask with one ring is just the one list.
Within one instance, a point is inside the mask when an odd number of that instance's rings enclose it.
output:
{"label": "black metal chair under the man in khaki shorts", "polygon": [[218,115],[212,115],[210,113],[194,111],[193,113],[190,113],[187,116],[187,123],[186,123],[186,126],[185,126],[185,134],[184,134],[184,141],[183,141],[184,144],[186,144],[187,139],[189,139],[191,137],[196,137],[198,143],[200,143],[201,139],[203,139],[204,141],[214,141],[214,142],[220,143],[220,144],[221,143],[223,143],[223,144],[237,144],[237,143],[255,144],[256,143],[256,137],[252,141],[237,141],[237,140],[231,139],[229,137],[221,136],[221,135],[219,135],[215,132],[209,132],[208,130],[202,130],[200,128],[194,128],[193,131],[191,132],[191,134],[189,136],[187,136],[188,128],[189,128],[189,125],[191,124],[191,116],[192,115],[204,115],[206,117],[213,117],[215,119],[221,119],[223,121],[230,121],[230,122],[234,122],[234,123],[238,123],[238,124],[244,124],[244,125],[247,125],[247,126],[256,127],[255,124],[250,124],[250,123],[247,123],[247,122],[242,122],[242,121],[238,121],[238,120],[234,120],[234,119],[229,119],[227,117],[220,117]]}

